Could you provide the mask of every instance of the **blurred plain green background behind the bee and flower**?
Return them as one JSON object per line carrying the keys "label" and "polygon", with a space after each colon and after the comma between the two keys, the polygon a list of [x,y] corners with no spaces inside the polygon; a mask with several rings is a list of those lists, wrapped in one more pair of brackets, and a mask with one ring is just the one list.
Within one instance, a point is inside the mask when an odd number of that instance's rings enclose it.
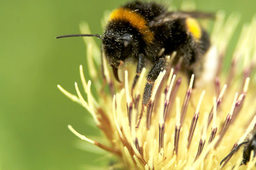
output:
{"label": "blurred plain green background behind the bee and flower", "polygon": [[[55,37],[79,33],[81,21],[88,22],[93,33],[101,33],[104,11],[124,3],[0,2],[0,169],[91,169],[86,165],[106,164],[109,155],[102,158],[77,147],[68,124],[87,136],[100,133],[88,113],[56,87],[60,84],[75,93],[79,64],[85,66],[86,61],[83,40]],[[173,4],[179,6],[180,1]],[[196,6],[204,11],[237,11],[244,23],[251,20],[256,1],[198,0]],[[240,29],[241,24],[232,41]]]}

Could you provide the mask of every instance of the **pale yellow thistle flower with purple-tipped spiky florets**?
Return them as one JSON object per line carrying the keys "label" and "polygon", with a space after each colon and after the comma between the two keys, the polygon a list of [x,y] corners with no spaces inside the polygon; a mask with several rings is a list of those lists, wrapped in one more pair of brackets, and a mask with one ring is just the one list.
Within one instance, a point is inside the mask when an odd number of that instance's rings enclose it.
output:
{"label": "pale yellow thistle flower with purple-tipped spiky florets", "polygon": [[[60,85],[58,88],[89,111],[108,143],[86,138],[71,125],[68,128],[77,137],[118,157],[127,169],[220,169],[221,160],[244,141],[256,123],[256,84],[252,74],[256,63],[256,18],[244,25],[228,71],[221,72],[238,20],[237,15],[225,20],[223,12],[217,13],[212,46],[200,80],[194,82],[191,76],[188,86],[177,67],[159,74],[140,126],[137,124],[146,69],[131,96],[134,67],[125,67],[124,83],[116,83],[104,57],[102,72],[97,71],[100,50],[92,38],[84,38],[88,74],[92,78],[86,81],[80,66],[86,100],[77,83],[77,95]],[[81,24],[81,31],[88,33],[88,26]],[[95,94],[91,85],[97,89]],[[222,167],[252,169],[255,166],[253,157],[240,166],[242,159],[243,154],[236,152]]]}

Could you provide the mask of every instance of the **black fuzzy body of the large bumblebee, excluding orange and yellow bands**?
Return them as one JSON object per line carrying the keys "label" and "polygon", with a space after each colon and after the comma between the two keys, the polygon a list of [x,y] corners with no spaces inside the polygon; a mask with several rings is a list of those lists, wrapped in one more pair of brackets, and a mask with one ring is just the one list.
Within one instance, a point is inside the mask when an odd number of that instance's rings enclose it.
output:
{"label": "black fuzzy body of the large bumblebee, excluding orange and yellow bands", "polygon": [[[207,32],[200,27],[200,39],[196,39],[191,32],[189,32],[186,19],[187,18],[200,18],[207,14],[199,12],[170,12],[164,6],[154,2],[140,2],[133,1],[127,3],[120,8],[131,10],[138,13],[147,22],[149,32],[154,34],[154,38],[150,41],[145,41],[145,34],[132,26],[131,22],[123,20],[110,20],[103,36],[103,50],[113,68],[119,68],[127,60],[139,61],[136,73],[139,75],[144,63],[150,63],[151,70],[148,73],[147,80],[152,83],[156,80],[158,74],[166,68],[166,56],[172,55],[176,52],[172,65],[175,66],[180,58],[181,70],[187,74],[188,78],[191,74],[195,77],[200,76],[202,71],[203,58],[210,46],[210,40]],[[124,39],[131,36],[129,46],[124,46]],[[147,36],[147,34],[146,34]],[[125,39],[125,41],[127,41]],[[154,68],[155,67],[155,68]],[[167,66],[169,67],[169,66]],[[157,70],[157,68],[160,68]],[[136,85],[134,78],[134,86]],[[150,87],[151,88],[151,87]],[[151,95],[144,94],[143,103],[147,104],[148,99],[145,96]],[[148,98],[148,97],[147,97]]]}

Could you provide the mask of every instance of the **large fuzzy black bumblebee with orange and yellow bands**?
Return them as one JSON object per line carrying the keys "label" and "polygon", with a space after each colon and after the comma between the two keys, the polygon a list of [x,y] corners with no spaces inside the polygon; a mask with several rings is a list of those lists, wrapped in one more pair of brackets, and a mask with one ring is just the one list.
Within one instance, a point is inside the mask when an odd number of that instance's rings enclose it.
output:
{"label": "large fuzzy black bumblebee with orange and yellow bands", "polygon": [[[212,13],[198,11],[168,11],[155,2],[132,1],[114,10],[102,36],[99,34],[72,34],[58,36],[95,36],[102,40],[106,59],[113,68],[117,81],[118,69],[128,60],[136,64],[136,86],[143,67],[150,67],[143,93],[143,106],[148,104],[154,81],[166,69],[166,56],[176,52],[172,66],[182,58],[181,70],[188,78],[200,76],[204,55],[209,49],[207,32],[195,18],[210,18]],[[170,66],[169,66],[170,67]],[[132,91],[131,90],[131,91]]]}

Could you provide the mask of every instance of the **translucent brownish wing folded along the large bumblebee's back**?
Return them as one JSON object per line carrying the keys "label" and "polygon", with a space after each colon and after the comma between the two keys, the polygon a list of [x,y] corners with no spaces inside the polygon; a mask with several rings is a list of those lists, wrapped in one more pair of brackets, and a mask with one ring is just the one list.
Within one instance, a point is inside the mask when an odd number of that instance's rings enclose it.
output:
{"label": "translucent brownish wing folded along the large bumblebee's back", "polygon": [[166,12],[162,15],[157,16],[154,18],[154,20],[150,21],[148,25],[150,27],[159,26],[161,24],[164,24],[166,22],[170,22],[172,20],[175,20],[177,18],[215,18],[215,13],[206,13],[201,11],[172,11],[172,12]]}

